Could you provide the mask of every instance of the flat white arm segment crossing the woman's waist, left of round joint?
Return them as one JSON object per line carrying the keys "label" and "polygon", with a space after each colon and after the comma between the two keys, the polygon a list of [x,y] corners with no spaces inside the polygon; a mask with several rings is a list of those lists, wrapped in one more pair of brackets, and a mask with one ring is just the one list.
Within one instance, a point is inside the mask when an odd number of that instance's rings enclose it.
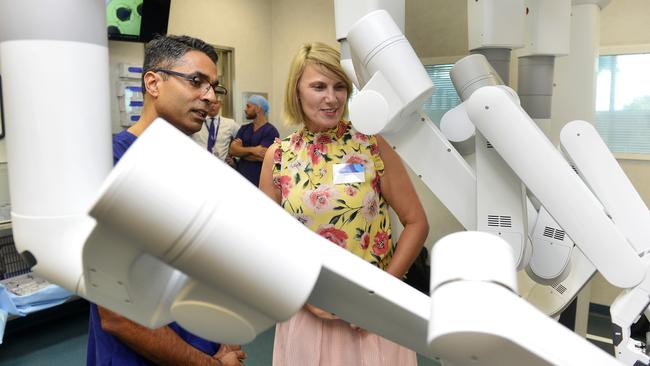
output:
{"label": "flat white arm segment crossing the woman's waist, left of round joint", "polygon": [[429,296],[331,242],[326,242],[320,253],[323,268],[309,304],[429,358],[435,357],[426,341]]}

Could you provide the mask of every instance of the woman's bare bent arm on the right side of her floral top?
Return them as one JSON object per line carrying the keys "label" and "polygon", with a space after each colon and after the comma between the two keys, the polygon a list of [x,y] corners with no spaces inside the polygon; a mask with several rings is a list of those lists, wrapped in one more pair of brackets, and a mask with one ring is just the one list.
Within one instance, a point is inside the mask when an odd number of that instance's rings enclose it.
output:
{"label": "woman's bare bent arm on the right side of her floral top", "polygon": [[429,234],[429,223],[400,157],[381,136],[377,136],[377,146],[379,156],[384,161],[381,194],[404,226],[397,250],[386,271],[402,278],[422,250]]}

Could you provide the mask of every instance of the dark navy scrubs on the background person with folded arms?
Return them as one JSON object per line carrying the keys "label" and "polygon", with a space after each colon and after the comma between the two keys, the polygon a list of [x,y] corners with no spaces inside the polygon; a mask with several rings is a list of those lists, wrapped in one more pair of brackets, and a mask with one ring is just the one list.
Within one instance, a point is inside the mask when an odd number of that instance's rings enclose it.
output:
{"label": "dark navy scrubs on the background person with folded arms", "polygon": [[[257,131],[253,131],[252,123],[243,125],[237,132],[235,138],[241,139],[244,147],[253,147],[258,145],[269,147],[278,137],[280,137],[278,130],[271,123],[267,122],[262,125],[262,127],[258,128]],[[261,161],[239,159],[237,171],[253,183],[255,187],[260,185],[260,172],[262,171]]]}

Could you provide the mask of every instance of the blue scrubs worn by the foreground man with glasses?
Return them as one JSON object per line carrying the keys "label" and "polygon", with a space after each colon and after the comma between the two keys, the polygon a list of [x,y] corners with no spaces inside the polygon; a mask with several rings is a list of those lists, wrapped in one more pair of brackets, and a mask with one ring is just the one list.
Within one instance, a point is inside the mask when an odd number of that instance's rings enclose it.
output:
{"label": "blue scrubs worn by the foreground man with glasses", "polygon": [[[113,137],[113,163],[117,163],[128,148],[135,142],[136,136],[124,130]],[[219,343],[199,338],[181,328],[177,323],[168,325],[185,342],[194,348],[209,354],[217,353]],[[97,305],[90,304],[90,319],[88,324],[88,366],[149,366],[154,363],[145,360],[133,352],[119,339],[105,332],[101,327]]]}

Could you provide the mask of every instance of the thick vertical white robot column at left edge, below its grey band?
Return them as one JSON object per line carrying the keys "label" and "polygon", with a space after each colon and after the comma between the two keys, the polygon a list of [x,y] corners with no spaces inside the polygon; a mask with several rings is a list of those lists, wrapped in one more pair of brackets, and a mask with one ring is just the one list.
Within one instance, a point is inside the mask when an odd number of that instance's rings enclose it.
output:
{"label": "thick vertical white robot column at left edge, below its grey band", "polygon": [[34,255],[35,272],[76,292],[94,225],[86,212],[112,165],[108,49],[13,40],[0,55],[16,247]]}

